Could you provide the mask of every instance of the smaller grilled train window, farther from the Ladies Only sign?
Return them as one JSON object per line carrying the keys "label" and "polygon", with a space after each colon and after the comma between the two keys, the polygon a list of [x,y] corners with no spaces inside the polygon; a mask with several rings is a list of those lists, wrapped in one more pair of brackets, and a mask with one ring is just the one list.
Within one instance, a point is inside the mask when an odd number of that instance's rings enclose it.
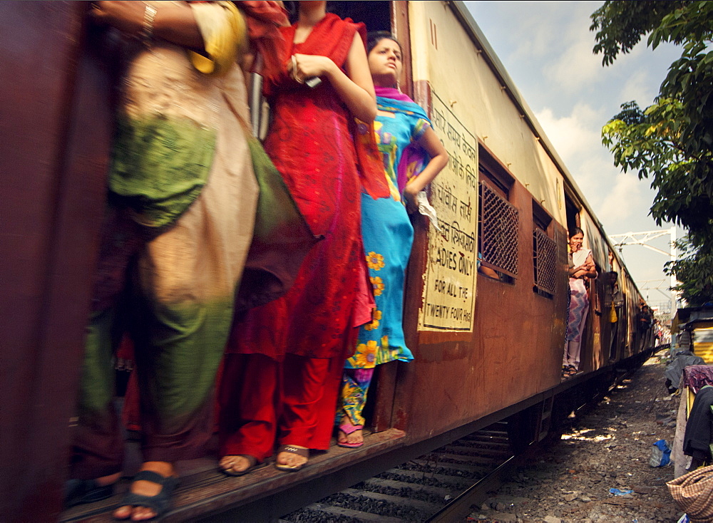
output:
{"label": "smaller grilled train window, farther from the Ladies Only sign", "polygon": [[533,291],[552,299],[555,296],[557,244],[548,231],[552,217],[533,200]]}

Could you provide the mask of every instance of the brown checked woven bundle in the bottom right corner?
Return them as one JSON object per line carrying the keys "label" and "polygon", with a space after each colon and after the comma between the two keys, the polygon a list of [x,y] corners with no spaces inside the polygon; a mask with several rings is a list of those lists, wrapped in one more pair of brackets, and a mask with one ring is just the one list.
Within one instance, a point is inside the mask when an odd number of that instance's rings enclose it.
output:
{"label": "brown checked woven bundle in the bottom right corner", "polygon": [[666,486],[674,502],[688,514],[692,523],[713,519],[713,465],[677,477]]}

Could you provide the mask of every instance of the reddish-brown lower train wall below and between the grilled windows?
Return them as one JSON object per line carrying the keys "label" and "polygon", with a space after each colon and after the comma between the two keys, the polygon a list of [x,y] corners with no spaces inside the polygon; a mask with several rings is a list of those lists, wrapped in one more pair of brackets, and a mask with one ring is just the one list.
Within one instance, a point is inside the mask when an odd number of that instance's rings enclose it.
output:
{"label": "reddish-brown lower train wall below and between the grilled windows", "polygon": [[[412,347],[416,361],[404,366],[407,370],[399,376],[394,408],[396,421],[408,421],[409,439],[469,423],[560,382],[567,234],[561,224],[553,224],[555,289],[553,299],[548,299],[533,292],[532,195],[515,182],[509,200],[520,216],[515,231],[520,245],[518,278],[509,284],[478,276],[473,333],[467,339],[453,339],[451,333],[419,333],[418,345]],[[425,247],[425,242],[417,243],[414,254],[423,257]],[[415,292],[409,289],[409,296]],[[417,304],[407,297],[407,306]]]}

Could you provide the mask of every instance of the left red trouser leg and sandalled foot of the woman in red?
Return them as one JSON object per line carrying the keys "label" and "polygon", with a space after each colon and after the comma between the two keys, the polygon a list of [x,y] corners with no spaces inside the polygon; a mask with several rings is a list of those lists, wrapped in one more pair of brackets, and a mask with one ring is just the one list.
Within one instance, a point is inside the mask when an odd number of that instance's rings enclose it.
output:
{"label": "left red trouser leg and sandalled foot of the woman in red", "polygon": [[[220,381],[220,466],[228,473],[272,455],[279,363],[262,354],[226,354]],[[255,465],[255,464],[253,464]]]}

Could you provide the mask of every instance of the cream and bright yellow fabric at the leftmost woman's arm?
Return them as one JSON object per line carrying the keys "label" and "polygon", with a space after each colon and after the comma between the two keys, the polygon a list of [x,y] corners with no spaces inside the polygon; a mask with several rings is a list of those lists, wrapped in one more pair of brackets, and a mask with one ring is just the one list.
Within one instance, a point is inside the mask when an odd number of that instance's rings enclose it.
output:
{"label": "cream and bright yellow fabric at the leftmost woman's arm", "polygon": [[247,46],[247,24],[230,1],[190,4],[203,37],[206,56],[188,51],[193,67],[208,76],[222,76]]}

